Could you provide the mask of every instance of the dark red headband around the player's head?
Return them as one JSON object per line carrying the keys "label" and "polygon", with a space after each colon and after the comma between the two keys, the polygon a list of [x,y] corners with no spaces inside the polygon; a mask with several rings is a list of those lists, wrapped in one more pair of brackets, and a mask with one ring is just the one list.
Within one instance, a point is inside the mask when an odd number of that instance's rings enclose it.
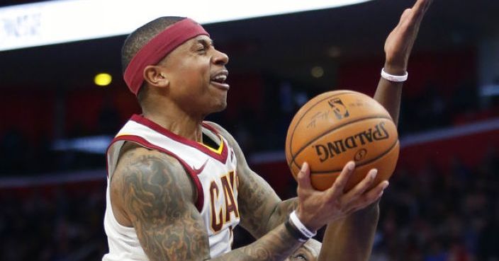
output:
{"label": "dark red headband around the player's head", "polygon": [[184,18],[147,42],[126,67],[124,78],[130,91],[135,95],[139,92],[144,81],[145,66],[157,64],[176,47],[198,35],[210,36],[201,25],[190,18]]}

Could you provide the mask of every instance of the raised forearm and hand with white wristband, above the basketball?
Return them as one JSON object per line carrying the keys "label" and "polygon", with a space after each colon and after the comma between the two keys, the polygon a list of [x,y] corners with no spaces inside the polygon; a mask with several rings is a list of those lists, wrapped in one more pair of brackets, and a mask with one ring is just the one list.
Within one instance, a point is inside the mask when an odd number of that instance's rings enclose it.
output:
{"label": "raised forearm and hand with white wristband, above the basketball", "polygon": [[422,18],[431,3],[432,0],[417,0],[412,8],[405,9],[398,25],[385,41],[383,76],[379,80],[374,99],[388,110],[395,124],[398,123],[403,81],[407,79],[405,76],[408,76],[410,52],[413,50]]}

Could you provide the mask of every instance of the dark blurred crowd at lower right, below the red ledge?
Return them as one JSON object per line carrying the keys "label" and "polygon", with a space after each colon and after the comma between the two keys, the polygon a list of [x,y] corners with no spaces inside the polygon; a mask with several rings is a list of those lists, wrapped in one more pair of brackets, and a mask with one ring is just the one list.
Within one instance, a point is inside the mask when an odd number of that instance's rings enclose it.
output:
{"label": "dark blurred crowd at lower right, below the red ledge", "polygon": [[476,166],[400,168],[381,201],[372,260],[499,260],[499,154]]}

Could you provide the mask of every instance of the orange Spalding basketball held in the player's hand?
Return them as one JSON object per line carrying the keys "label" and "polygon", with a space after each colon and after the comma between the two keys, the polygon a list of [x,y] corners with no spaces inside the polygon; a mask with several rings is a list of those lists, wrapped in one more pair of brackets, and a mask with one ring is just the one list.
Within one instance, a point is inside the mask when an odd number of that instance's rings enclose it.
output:
{"label": "orange Spalding basketball held in the player's hand", "polygon": [[305,103],[286,136],[286,161],[296,179],[306,161],[317,190],[327,190],[348,161],[356,168],[345,190],[378,169],[374,184],[388,180],[398,160],[398,134],[376,100],[355,91],[329,91]]}

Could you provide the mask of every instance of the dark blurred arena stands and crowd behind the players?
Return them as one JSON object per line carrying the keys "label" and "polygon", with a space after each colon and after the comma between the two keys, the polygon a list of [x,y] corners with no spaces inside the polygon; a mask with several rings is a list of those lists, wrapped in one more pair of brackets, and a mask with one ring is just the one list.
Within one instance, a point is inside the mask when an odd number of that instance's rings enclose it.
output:
{"label": "dark blurred arena stands and crowd behind the players", "polygon": [[[375,0],[207,24],[230,57],[231,86],[228,108],[208,120],[235,136],[281,198],[292,197],[284,141],[294,113],[324,91],[373,95],[384,40],[412,4]],[[371,260],[499,260],[498,13],[496,0],[435,0],[428,11],[403,87],[400,158]],[[106,253],[104,152],[140,113],[120,73],[124,39],[0,52],[0,260]],[[108,86],[94,83],[102,72],[112,76]],[[236,232],[235,247],[252,241]]]}

